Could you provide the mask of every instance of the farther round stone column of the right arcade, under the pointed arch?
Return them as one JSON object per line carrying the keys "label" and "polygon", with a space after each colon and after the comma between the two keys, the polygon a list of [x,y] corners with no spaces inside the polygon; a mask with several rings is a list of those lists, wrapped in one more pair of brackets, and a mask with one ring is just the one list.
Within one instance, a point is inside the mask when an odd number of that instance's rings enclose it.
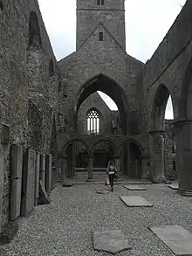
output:
{"label": "farther round stone column of the right arcade, under the pointed arch", "polygon": [[150,166],[152,172],[152,179],[154,183],[165,183],[164,176],[165,163],[164,163],[164,138],[165,131],[154,130],[149,131],[150,138]]}

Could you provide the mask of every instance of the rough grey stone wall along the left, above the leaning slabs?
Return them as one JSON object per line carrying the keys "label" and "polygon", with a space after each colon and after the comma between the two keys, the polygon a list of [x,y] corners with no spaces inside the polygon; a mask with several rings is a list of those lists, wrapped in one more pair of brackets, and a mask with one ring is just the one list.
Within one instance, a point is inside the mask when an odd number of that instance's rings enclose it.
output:
{"label": "rough grey stone wall along the left, above the leaning slabs", "polygon": [[[31,11],[34,12],[30,23]],[[24,151],[28,146],[49,151],[51,119],[47,108],[57,111],[58,68],[38,1],[4,0],[0,10],[0,38],[0,121],[10,127],[10,142],[0,144],[4,162],[0,170],[4,177],[1,224],[5,225],[10,215],[10,144],[22,144]],[[40,48],[32,48],[31,40],[35,42],[37,38]],[[49,74],[51,60],[53,76]],[[32,123],[34,118],[40,121],[37,128]],[[39,130],[40,149],[36,141]]]}

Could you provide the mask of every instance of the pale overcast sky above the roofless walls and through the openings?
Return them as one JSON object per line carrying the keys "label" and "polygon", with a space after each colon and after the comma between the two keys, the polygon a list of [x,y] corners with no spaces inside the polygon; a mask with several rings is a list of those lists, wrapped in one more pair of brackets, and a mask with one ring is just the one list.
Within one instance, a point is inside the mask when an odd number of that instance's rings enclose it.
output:
{"label": "pale overcast sky above the roofless walls and through the openings", "polygon": [[[144,63],[150,59],[185,2],[126,0],[127,53]],[[76,0],[38,0],[38,3],[53,51],[58,60],[62,59],[75,51]],[[116,109],[109,97],[105,96],[104,100],[111,109]],[[168,100],[166,118],[172,117],[171,100]]]}

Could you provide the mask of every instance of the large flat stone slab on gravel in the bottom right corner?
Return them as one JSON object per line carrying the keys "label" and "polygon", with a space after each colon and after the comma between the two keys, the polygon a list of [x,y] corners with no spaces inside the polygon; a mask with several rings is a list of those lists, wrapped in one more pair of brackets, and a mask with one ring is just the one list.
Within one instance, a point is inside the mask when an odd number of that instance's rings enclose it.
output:
{"label": "large flat stone slab on gravel in the bottom right corner", "polygon": [[192,233],[180,225],[161,225],[149,227],[176,256],[192,255]]}

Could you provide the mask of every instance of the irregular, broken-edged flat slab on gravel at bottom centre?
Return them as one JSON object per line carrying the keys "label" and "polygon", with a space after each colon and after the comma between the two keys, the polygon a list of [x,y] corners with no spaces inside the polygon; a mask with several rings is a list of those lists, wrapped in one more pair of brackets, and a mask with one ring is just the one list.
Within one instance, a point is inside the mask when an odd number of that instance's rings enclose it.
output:
{"label": "irregular, broken-edged flat slab on gravel at bottom centre", "polygon": [[112,253],[113,255],[131,249],[124,234],[120,230],[93,232],[93,248],[98,252]]}

